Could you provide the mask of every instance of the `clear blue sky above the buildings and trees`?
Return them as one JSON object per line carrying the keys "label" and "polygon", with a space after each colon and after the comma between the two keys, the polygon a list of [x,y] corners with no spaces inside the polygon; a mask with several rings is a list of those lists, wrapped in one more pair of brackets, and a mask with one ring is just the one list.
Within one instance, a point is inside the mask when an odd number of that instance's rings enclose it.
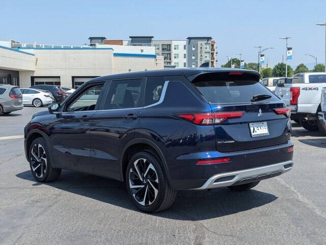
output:
{"label": "clear blue sky above the buildings and trees", "polygon": [[0,40],[81,45],[90,36],[154,39],[211,36],[219,51],[218,66],[226,56],[244,53],[257,62],[256,45],[274,47],[265,53],[269,65],[282,61],[290,36],[293,60],[289,65],[313,64],[310,53],[324,62],[326,1],[2,1]]}

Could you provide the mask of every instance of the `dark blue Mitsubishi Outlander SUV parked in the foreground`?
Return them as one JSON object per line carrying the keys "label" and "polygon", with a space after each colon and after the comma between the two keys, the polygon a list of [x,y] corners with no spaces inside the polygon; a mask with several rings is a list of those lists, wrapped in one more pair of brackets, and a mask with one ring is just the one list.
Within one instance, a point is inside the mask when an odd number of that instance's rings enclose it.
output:
{"label": "dark blue Mitsubishi Outlander SUV parked in the foreground", "polygon": [[256,71],[115,74],[34,114],[24,147],[37,181],[55,180],[61,169],[118,179],[135,206],[155,212],[177,190],[246,191],[289,171],[289,116]]}

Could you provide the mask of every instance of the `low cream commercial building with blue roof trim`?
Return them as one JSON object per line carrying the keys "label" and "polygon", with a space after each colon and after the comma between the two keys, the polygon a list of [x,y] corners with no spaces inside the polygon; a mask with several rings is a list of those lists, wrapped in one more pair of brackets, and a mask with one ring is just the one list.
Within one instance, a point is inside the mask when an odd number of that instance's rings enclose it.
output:
{"label": "low cream commercial building with blue roof trim", "polygon": [[2,41],[0,83],[20,87],[53,84],[75,88],[97,76],[164,69],[163,58],[155,54],[154,47],[108,47],[104,44],[105,38],[97,39],[90,38],[91,46]]}

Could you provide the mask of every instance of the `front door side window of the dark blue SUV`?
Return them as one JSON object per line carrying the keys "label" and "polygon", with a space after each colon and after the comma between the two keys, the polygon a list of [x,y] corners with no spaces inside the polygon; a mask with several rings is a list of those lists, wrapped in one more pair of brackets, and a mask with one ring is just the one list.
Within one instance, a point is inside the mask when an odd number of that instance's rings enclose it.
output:
{"label": "front door side window of the dark blue SUV", "polygon": [[88,87],[67,107],[66,111],[91,111],[95,109],[103,84]]}

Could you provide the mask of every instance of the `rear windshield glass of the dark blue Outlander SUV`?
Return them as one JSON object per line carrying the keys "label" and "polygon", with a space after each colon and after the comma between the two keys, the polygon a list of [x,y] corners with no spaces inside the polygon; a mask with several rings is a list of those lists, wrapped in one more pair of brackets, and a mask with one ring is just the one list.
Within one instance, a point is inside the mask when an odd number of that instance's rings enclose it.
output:
{"label": "rear windshield glass of the dark blue Outlander SUV", "polygon": [[[244,76],[244,75],[243,75]],[[223,79],[221,79],[223,78]],[[246,79],[247,78],[247,79]],[[254,95],[270,95],[271,98],[265,101],[276,100],[277,97],[266,89],[253,77],[202,75],[196,78],[193,84],[197,87],[203,97],[210,103],[233,104],[251,103]]]}

